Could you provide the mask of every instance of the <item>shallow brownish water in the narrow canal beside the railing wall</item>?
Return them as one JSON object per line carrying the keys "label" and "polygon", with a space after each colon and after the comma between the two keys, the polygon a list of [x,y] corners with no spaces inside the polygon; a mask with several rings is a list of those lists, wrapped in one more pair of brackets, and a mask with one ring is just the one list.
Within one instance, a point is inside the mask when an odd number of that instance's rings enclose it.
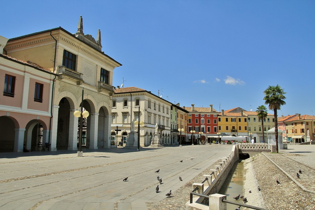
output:
{"label": "shallow brownish water in the narrow canal beside the railing wall", "polygon": [[[238,194],[243,194],[243,175],[245,175],[244,166],[242,159],[240,159],[239,162],[236,162],[232,167],[219,194],[226,195],[226,200],[243,203],[242,198],[238,200],[233,198],[238,196]],[[226,204],[226,210],[235,210],[237,207],[238,206],[233,204]]]}

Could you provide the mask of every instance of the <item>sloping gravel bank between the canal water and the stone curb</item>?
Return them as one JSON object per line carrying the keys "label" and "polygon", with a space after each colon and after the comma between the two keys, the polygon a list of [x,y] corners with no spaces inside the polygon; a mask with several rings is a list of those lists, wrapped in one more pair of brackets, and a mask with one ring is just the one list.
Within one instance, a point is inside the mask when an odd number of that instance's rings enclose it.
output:
{"label": "sloping gravel bank between the canal water and the stone curb", "polygon": [[[244,194],[248,199],[247,204],[259,206],[264,203],[265,208],[271,210],[315,210],[315,195],[301,190],[264,155],[251,157],[245,162]],[[277,179],[280,184],[276,183]],[[261,186],[258,193],[256,182]],[[248,193],[250,188],[252,193]]]}

